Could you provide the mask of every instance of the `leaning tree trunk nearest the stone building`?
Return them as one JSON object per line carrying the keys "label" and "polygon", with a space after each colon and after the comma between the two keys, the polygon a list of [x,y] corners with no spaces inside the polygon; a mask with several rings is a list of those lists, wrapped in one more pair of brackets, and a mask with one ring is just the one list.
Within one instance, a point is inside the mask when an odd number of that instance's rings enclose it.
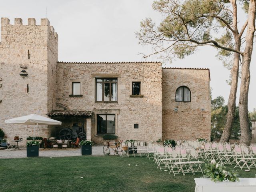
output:
{"label": "leaning tree trunk nearest the stone building", "polygon": [[[236,43],[236,50],[240,50],[241,40],[239,39]],[[228,114],[225,128],[222,132],[222,136],[220,138],[220,142],[228,142],[231,135],[231,130],[234,122],[235,111],[236,111],[236,92],[237,92],[237,82],[238,82],[238,74],[239,74],[239,61],[240,54],[234,53],[234,63],[231,70],[231,86],[230,93],[228,98]]]}

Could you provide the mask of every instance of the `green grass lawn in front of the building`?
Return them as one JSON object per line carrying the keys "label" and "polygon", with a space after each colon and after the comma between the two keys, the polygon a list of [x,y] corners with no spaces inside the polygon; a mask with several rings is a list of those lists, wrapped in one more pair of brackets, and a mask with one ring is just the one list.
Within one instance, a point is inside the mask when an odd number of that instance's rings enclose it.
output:
{"label": "green grass lawn in front of the building", "polygon": [[[240,177],[256,174],[255,168],[238,171]],[[152,159],[117,156],[0,159],[0,175],[0,192],[193,192],[194,178],[202,176],[174,177]]]}

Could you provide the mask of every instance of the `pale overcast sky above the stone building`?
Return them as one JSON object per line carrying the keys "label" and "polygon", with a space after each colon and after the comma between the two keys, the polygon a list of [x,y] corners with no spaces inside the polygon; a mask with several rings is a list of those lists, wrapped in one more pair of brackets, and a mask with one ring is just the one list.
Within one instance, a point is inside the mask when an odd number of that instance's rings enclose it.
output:
{"label": "pale overcast sky above the stone building", "polygon": [[[139,54],[150,53],[150,47],[138,44],[135,32],[140,30],[140,21],[151,17],[159,23],[161,16],[152,9],[153,0],[1,0],[0,17],[22,18],[27,24],[28,18],[46,17],[59,36],[59,61],[98,62],[98,61],[144,61]],[[244,19],[244,14],[239,17]],[[242,22],[240,22],[242,23]],[[251,81],[248,110],[256,108],[256,51],[252,55],[250,66]],[[210,47],[200,48],[195,54],[172,64],[170,67],[209,68],[212,95],[224,96],[226,103],[230,86],[226,83],[230,72],[216,59],[216,50]],[[162,61],[149,58],[148,61]],[[239,100],[239,88],[237,104]]]}

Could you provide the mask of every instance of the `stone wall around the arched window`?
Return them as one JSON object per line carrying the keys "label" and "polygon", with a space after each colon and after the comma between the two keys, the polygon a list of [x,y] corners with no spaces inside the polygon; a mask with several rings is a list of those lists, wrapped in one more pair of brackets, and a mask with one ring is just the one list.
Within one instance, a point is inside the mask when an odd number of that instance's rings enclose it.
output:
{"label": "stone wall around the arched window", "polygon": [[[163,140],[210,140],[211,106],[209,70],[163,68],[162,119]],[[176,102],[176,90],[187,86],[191,102]]]}

